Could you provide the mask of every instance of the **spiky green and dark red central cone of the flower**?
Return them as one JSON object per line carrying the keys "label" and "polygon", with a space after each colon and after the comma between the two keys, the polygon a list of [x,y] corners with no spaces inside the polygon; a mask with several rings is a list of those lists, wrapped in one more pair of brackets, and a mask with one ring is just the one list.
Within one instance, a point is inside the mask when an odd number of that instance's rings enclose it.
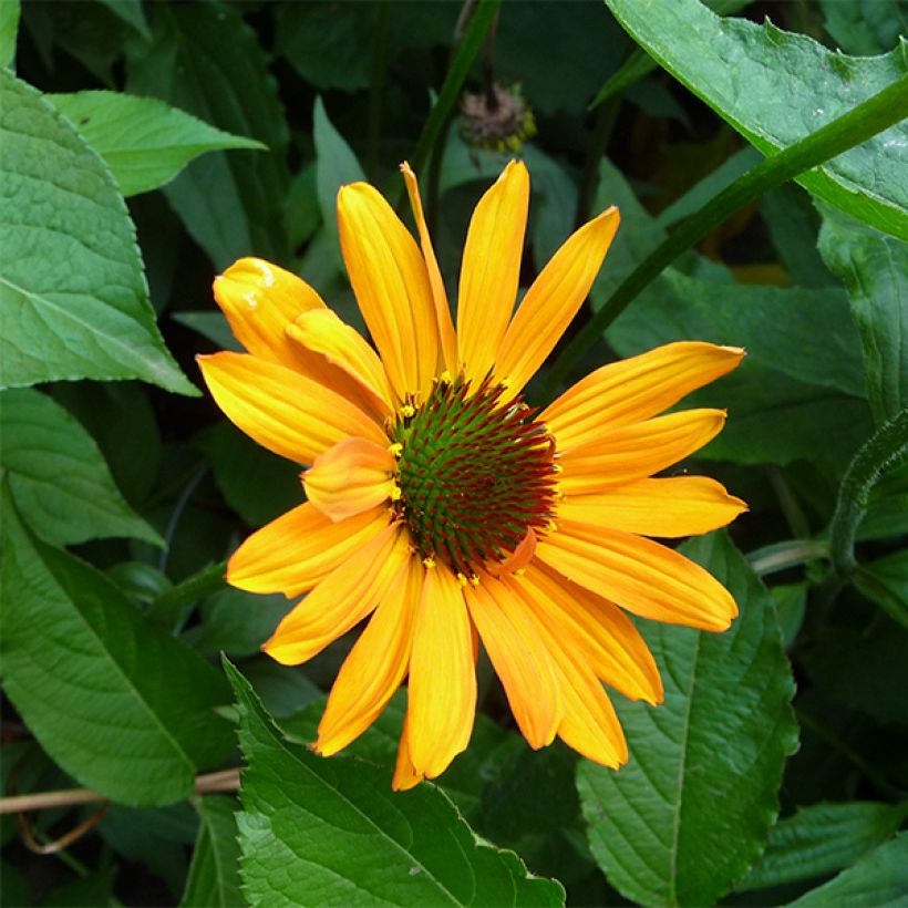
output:
{"label": "spiky green and dark red central cone of the flower", "polygon": [[503,401],[504,391],[441,379],[391,429],[398,513],[423,558],[465,577],[507,558],[554,513],[554,440],[519,398]]}

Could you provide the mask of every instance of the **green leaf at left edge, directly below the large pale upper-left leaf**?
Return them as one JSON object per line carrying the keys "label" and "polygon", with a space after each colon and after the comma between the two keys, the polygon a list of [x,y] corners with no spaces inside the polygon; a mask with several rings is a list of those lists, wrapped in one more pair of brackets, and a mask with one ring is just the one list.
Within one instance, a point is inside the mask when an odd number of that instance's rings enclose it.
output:
{"label": "green leaf at left edge, directly below the large pale upper-left leaf", "polygon": [[124,536],[163,546],[114,485],[91,435],[32,389],[0,393],[0,467],[16,505],[56,545]]}

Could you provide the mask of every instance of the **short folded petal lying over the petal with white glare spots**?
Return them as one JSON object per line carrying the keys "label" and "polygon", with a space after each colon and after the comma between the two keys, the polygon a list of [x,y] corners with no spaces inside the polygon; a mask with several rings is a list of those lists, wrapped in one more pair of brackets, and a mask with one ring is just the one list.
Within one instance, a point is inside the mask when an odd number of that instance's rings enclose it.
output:
{"label": "short folded petal lying over the petal with white glare spots", "polygon": [[303,312],[287,327],[287,336],[301,350],[324,357],[348,375],[383,416],[392,415],[394,398],[382,361],[359,332],[330,309]]}

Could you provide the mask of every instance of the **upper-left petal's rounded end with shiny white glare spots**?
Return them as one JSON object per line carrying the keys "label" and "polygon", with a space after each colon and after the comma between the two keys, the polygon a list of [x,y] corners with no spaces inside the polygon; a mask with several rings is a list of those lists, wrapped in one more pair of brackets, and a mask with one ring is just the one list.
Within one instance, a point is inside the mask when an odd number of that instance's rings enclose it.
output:
{"label": "upper-left petal's rounded end with shiny white glare spots", "polygon": [[286,328],[302,312],[324,309],[302,279],[260,258],[241,258],[215,278],[215,299],[236,339],[255,357],[291,369],[297,352]]}

